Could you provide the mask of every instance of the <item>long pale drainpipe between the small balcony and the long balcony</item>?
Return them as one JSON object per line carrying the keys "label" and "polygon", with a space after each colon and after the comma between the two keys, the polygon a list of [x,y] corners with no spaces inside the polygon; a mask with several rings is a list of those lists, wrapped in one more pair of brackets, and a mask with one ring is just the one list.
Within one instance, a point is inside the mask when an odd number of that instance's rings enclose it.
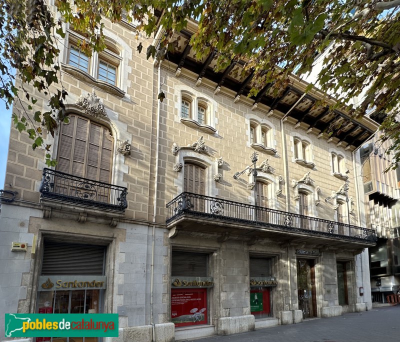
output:
{"label": "long pale drainpipe between the small balcony and the long balcony", "polygon": [[[161,74],[161,62],[158,63],[158,75],[157,75],[157,89],[160,88],[160,74]],[[157,94],[155,94],[157,96]],[[154,192],[153,192],[153,219],[152,219],[152,232],[151,232],[151,265],[150,265],[150,324],[152,327],[152,339],[154,342],[154,319],[153,319],[153,300],[154,300],[154,242],[155,242],[155,217],[157,215],[157,189],[158,189],[158,156],[159,156],[159,118],[160,118],[160,101],[157,99],[157,116],[156,116],[156,137],[155,137],[155,166],[154,166]]]}

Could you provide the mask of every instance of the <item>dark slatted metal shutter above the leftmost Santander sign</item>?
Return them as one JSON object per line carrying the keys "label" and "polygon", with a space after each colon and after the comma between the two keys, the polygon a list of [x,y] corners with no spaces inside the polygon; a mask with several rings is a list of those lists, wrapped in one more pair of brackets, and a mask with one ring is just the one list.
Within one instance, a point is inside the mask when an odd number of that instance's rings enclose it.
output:
{"label": "dark slatted metal shutter above the leftmost Santander sign", "polygon": [[45,241],[41,275],[104,275],[105,246]]}

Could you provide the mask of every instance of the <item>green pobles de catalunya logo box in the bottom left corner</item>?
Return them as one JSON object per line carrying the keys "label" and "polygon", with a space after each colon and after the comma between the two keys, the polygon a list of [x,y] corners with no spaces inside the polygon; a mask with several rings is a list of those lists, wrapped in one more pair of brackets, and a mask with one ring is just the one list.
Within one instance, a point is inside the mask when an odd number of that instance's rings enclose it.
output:
{"label": "green pobles de catalunya logo box in the bottom left corner", "polygon": [[118,337],[117,313],[6,313],[5,337]]}

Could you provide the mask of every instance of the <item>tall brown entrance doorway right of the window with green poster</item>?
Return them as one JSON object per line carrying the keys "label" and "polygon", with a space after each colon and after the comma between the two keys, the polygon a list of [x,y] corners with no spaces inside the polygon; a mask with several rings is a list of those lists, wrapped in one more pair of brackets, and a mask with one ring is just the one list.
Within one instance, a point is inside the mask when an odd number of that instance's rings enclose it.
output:
{"label": "tall brown entrance doorway right of the window with green poster", "polygon": [[298,309],[303,318],[316,317],[314,260],[297,259]]}

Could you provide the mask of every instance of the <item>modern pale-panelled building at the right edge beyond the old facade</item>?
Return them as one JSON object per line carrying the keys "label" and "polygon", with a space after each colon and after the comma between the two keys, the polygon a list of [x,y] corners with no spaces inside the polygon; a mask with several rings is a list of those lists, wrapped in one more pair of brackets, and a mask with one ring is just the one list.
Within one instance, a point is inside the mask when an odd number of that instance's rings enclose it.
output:
{"label": "modern pale-panelled building at the right edge beyond the old facade", "polygon": [[375,134],[362,145],[357,158],[364,191],[365,226],[376,230],[378,238],[376,246],[368,248],[372,301],[386,303],[400,289],[400,173],[398,168],[385,171],[391,162],[391,155],[385,153],[390,143],[382,143],[379,135]]}

